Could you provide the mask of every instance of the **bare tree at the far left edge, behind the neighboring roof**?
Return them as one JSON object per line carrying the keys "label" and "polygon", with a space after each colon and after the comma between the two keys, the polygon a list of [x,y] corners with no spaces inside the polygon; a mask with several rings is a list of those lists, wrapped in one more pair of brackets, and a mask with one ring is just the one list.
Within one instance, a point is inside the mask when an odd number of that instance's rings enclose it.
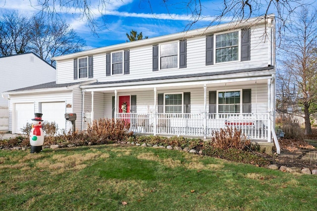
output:
{"label": "bare tree at the far left edge, behind the neighboring roof", "polygon": [[28,51],[29,20],[16,11],[0,17],[0,53],[3,56]]}

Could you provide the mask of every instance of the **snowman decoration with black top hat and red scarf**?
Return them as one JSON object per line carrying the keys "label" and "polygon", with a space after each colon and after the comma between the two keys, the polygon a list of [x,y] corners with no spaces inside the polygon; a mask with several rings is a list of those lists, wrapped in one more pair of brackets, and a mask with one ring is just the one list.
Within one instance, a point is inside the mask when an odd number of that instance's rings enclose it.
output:
{"label": "snowman decoration with black top hat and red scarf", "polygon": [[30,144],[31,153],[41,152],[44,143],[44,133],[42,129],[42,115],[41,113],[35,113],[35,118],[32,119],[32,129],[30,132]]}

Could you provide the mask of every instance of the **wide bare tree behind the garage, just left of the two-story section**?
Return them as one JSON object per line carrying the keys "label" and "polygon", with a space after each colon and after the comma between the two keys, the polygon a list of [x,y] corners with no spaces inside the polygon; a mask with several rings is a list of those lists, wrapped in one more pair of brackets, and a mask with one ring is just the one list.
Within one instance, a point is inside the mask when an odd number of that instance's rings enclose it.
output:
{"label": "wide bare tree behind the garage, just left of the two-story section", "polygon": [[54,66],[50,58],[83,50],[86,42],[63,21],[48,21],[37,15],[30,24],[30,49]]}

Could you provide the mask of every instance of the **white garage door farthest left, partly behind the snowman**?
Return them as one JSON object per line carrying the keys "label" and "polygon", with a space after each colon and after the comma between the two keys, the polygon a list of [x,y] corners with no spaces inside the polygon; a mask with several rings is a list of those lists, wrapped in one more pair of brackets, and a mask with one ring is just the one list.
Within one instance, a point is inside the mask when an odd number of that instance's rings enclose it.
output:
{"label": "white garage door farthest left, partly behind the snowman", "polygon": [[25,127],[26,123],[32,124],[34,118],[34,103],[16,103],[14,113],[13,133],[22,133],[21,128]]}

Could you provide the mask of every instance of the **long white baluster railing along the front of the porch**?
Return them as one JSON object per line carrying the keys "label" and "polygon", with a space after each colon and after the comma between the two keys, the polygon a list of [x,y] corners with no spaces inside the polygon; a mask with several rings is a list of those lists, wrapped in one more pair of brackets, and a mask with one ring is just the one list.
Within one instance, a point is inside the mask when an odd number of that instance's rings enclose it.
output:
{"label": "long white baluster railing along the front of the porch", "polygon": [[236,127],[247,138],[267,140],[268,114],[117,113],[116,118],[129,122],[135,133],[210,137],[214,130]]}

